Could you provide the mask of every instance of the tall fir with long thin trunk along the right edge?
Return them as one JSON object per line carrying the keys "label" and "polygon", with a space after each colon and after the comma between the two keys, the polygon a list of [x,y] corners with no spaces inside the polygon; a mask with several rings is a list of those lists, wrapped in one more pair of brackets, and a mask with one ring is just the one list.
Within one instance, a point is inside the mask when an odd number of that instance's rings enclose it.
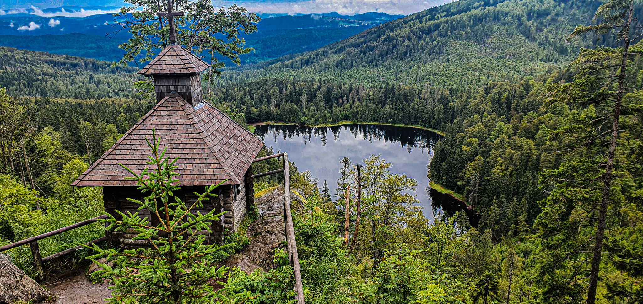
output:
{"label": "tall fir with long thin trunk along the right edge", "polygon": [[[590,33],[614,37],[617,48],[581,49],[572,63],[574,82],[550,85],[550,107],[567,105],[566,124],[550,138],[566,146],[568,161],[556,170],[545,170],[541,184],[551,191],[541,202],[536,221],[545,264],[543,298],[552,303],[596,301],[603,244],[610,213],[620,208],[631,164],[623,157],[631,141],[624,102],[628,93],[628,70],[633,55],[643,49],[633,46],[640,38],[634,0],[609,0],[595,13],[599,24],[577,26],[571,37]],[[636,105],[634,105],[636,107]]]}

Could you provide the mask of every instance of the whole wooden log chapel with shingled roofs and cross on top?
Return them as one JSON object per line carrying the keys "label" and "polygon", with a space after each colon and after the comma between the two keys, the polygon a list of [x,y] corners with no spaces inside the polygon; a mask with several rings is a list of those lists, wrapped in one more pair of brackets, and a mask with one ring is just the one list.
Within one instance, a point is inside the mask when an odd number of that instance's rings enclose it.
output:
{"label": "whole wooden log chapel with shingled roofs and cross on top", "polygon": [[[170,15],[167,15],[167,14]],[[165,14],[168,18],[171,10]],[[201,58],[176,44],[174,23],[170,24],[170,44],[139,72],[151,76],[156,93],[156,106],[129,129],[122,138],[89,167],[72,186],[101,186],[105,211],[118,216],[138,211],[138,205],[127,200],[143,199],[136,190],[135,181],[126,181],[131,176],[119,166],[121,163],[134,172],[145,168],[150,148],[145,139],[152,138],[156,129],[160,147],[167,147],[170,159],[180,157],[175,172],[180,174],[181,191],[175,192],[184,202],[194,202],[193,192],[203,192],[204,186],[219,184],[218,197],[204,202],[201,213],[210,210],[228,211],[221,222],[212,224],[213,235],[221,240],[225,229],[236,231],[253,204],[252,162],[264,146],[254,134],[235,123],[230,117],[205,102],[201,96],[201,72],[210,67]],[[141,217],[154,217],[147,210],[138,211]],[[145,240],[131,240],[136,235],[108,232],[108,238],[116,246],[141,246]]]}

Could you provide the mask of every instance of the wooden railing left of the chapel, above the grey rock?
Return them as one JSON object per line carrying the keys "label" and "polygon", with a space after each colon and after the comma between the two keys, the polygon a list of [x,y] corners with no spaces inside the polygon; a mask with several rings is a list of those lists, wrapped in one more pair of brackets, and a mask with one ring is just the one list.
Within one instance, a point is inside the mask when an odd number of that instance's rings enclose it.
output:
{"label": "wooden railing left of the chapel, above the grey rock", "polygon": [[[9,250],[9,249],[13,249],[15,247],[19,247],[19,246],[29,244],[29,246],[32,249],[33,262],[35,264],[36,271],[38,271],[38,273],[39,273],[38,278],[41,281],[44,281],[46,279],[45,272],[44,272],[44,263],[45,262],[49,262],[49,261],[51,261],[51,260],[53,260],[55,258],[59,258],[60,256],[64,256],[64,255],[68,255],[69,253],[73,253],[74,251],[76,251],[78,249],[81,249],[83,246],[78,245],[76,247],[60,251],[59,253],[54,253],[53,255],[45,256],[43,258],[41,256],[41,254],[40,254],[40,247],[38,246],[38,241],[39,240],[42,240],[43,238],[53,237],[54,235],[59,235],[60,233],[63,233],[63,232],[69,231],[69,230],[73,230],[73,229],[76,229],[76,228],[80,228],[82,226],[87,226],[89,224],[98,222],[98,220],[108,219],[108,218],[109,217],[107,215],[101,215],[100,217],[95,217],[95,218],[89,219],[89,220],[83,220],[82,222],[78,222],[76,224],[69,225],[67,227],[63,227],[63,228],[60,228],[60,229],[55,229],[54,231],[49,231],[48,233],[42,233],[42,235],[37,235],[35,237],[25,238],[24,240],[19,240],[18,242],[15,242],[15,243],[8,244],[8,245],[0,247],[0,252],[6,251],[6,250]],[[96,238],[96,240],[93,240],[91,242],[87,242],[84,245],[89,246],[89,245],[94,244],[94,243],[103,242],[104,240],[107,240],[107,237]]]}

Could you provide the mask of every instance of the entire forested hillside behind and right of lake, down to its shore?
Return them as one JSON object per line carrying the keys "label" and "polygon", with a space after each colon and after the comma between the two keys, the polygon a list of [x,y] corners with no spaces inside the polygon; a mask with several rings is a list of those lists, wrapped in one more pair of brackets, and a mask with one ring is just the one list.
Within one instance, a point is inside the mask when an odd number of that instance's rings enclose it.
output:
{"label": "entire forested hillside behind and right of lake, down to its shore", "polygon": [[[565,40],[592,21],[599,4],[458,1],[226,73],[212,98],[243,109],[249,123],[350,120],[442,130],[431,179],[464,193],[484,219],[491,206],[512,214],[503,218],[505,235],[523,213],[523,224],[533,224],[545,197],[538,172],[563,160],[547,136],[569,113],[543,107],[548,84],[573,80],[575,69],[566,67],[581,47],[613,44],[609,35]],[[507,140],[496,142],[501,135]]]}

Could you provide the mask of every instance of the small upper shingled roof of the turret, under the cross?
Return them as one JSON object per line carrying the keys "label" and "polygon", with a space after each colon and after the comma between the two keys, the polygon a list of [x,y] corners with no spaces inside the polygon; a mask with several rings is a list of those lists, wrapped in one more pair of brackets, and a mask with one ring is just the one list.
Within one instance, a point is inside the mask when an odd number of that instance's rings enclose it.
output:
{"label": "small upper shingled roof of the turret, under the cross", "polygon": [[143,67],[139,74],[150,75],[176,75],[197,74],[210,67],[209,64],[196,57],[181,46],[170,44],[161,53]]}

